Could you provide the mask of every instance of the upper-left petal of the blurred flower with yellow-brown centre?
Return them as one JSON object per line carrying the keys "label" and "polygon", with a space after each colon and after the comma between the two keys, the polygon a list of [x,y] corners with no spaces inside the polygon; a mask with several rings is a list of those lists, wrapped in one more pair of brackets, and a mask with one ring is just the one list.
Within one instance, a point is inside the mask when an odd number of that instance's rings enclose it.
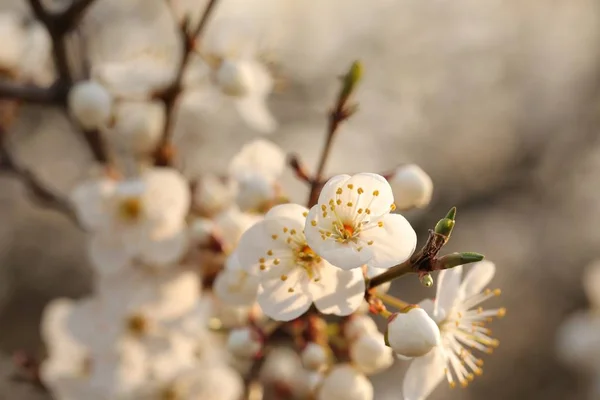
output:
{"label": "upper-left petal of the blurred flower with yellow-brown centre", "polygon": [[71,201],[83,226],[92,230],[107,226],[111,218],[107,200],[114,191],[115,183],[108,179],[85,182],[73,190]]}

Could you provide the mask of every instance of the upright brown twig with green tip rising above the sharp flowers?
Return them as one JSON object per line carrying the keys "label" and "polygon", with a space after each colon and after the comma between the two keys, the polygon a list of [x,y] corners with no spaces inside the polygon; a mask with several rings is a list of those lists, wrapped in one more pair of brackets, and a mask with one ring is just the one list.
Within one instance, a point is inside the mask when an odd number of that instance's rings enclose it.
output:
{"label": "upright brown twig with green tip rising above the sharp flowers", "polygon": [[321,152],[321,157],[319,158],[319,165],[317,166],[317,171],[313,177],[310,194],[308,196],[308,207],[312,207],[317,203],[317,199],[319,197],[319,192],[321,191],[321,187],[323,186],[323,173],[325,171],[325,164],[329,159],[329,154],[331,152],[331,145],[333,144],[333,137],[338,130],[340,124],[350,118],[352,114],[354,114],[358,107],[356,104],[348,104],[348,100],[350,99],[350,95],[356,88],[358,81],[360,80],[362,75],[362,66],[360,62],[355,61],[350,70],[346,75],[344,75],[342,89],[337,98],[337,102],[333,110],[329,113],[329,125],[327,129],[327,137],[325,138],[325,146],[323,147],[323,151]]}

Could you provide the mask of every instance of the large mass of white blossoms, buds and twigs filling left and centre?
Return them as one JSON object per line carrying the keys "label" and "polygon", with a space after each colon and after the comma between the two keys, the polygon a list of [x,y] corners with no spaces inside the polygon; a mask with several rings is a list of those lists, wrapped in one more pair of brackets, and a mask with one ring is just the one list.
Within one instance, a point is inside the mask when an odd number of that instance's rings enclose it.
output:
{"label": "large mass of white blossoms, buds and twigs filling left and centre", "polygon": [[[49,50],[41,25],[0,20],[7,43],[18,36]],[[227,174],[185,177],[171,132],[182,92],[207,83],[200,97],[229,99],[255,129],[276,128],[265,105],[274,78],[260,52],[240,51],[218,29],[199,46],[203,23],[193,37],[189,23],[178,71],[151,49],[118,61],[90,57],[91,78],[71,82],[60,100],[111,157],[100,157],[110,165],[70,196],[96,281],[88,297],[56,299],[45,310],[41,383],[59,400],[370,400],[369,376],[398,358],[410,361],[405,400],[426,398],[444,379],[466,386],[483,363],[471,349],[498,345],[485,324],[505,310],[480,306],[500,293],[486,288],[494,264],[476,253],[437,257],[455,209],[417,250],[399,212],[429,204],[433,184],[421,168],[325,179],[327,151],[314,176],[290,162],[310,185],[305,207],[283,191],[286,154],[264,139],[246,144]],[[30,74],[23,63],[49,54],[30,45],[1,49],[0,72]],[[348,102],[360,71],[355,63],[343,78],[327,146],[356,111]],[[435,271],[435,300],[409,304],[387,293],[407,274],[431,286]]]}

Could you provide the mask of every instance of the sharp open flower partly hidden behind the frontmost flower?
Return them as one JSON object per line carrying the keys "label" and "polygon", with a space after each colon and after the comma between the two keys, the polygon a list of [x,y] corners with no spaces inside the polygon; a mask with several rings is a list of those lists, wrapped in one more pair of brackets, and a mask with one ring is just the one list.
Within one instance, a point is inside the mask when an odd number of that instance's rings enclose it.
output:
{"label": "sharp open flower partly hidden behind the frontmost flower", "polygon": [[260,278],[258,303],[269,317],[289,321],[314,302],[324,314],[348,315],[361,304],[360,269],[345,271],[315,254],[304,236],[308,210],[297,204],[273,207],[244,233],[240,263]]}

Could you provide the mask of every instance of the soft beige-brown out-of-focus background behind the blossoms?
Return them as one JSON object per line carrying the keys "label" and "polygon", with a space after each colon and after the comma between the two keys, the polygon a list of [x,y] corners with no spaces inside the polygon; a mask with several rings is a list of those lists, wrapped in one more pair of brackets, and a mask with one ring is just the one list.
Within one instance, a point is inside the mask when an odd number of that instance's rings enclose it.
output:
{"label": "soft beige-brown out-of-focus background behind the blossoms", "polygon": [[[89,26],[91,41],[93,29],[136,18],[145,29],[160,30],[165,16],[152,3],[162,1],[97,0],[82,29]],[[0,10],[29,15],[26,3],[0,0]],[[132,12],[134,3],[144,12]],[[204,1],[175,3],[199,13]],[[420,165],[435,185],[432,204],[406,214],[420,243],[456,206],[447,250],[477,251],[496,262],[492,284],[502,296],[492,306],[508,310],[492,326],[500,347],[484,356],[485,373],[469,388],[440,385],[431,398],[584,398],[587,377],[561,365],[554,343],[560,322],[586,307],[581,271],[600,256],[600,2],[222,3],[220,15],[256,24],[273,39],[282,85],[269,99],[280,124],[269,139],[314,167],[337,77],[360,59],[360,111],[336,138],[328,172]],[[119,6],[127,8],[125,16],[109,17]],[[182,105],[177,118],[189,175],[223,171],[244,142],[260,136],[231,108],[199,112]],[[56,110],[25,105],[11,138],[20,162],[61,193],[91,165],[84,143]],[[291,172],[285,184],[292,199],[305,200]],[[81,232],[0,173],[0,399],[45,398],[10,379],[10,355],[40,354],[44,305],[89,293],[92,280]],[[392,290],[413,302],[434,296],[413,278]],[[401,397],[405,367],[398,362],[375,378],[376,399]]]}

